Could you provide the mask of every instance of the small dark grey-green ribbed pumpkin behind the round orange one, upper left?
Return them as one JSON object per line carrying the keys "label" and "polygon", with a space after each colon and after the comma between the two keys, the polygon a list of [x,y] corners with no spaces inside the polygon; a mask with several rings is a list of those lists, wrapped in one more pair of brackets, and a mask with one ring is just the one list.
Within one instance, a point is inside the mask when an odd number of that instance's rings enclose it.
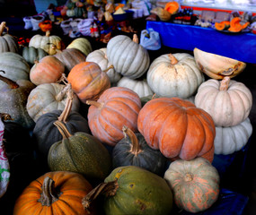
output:
{"label": "small dark grey-green ribbed pumpkin behind the round orange one, upper left", "polygon": [[32,66],[35,61],[40,61],[44,56],[48,56],[48,53],[40,47],[22,47],[22,56]]}

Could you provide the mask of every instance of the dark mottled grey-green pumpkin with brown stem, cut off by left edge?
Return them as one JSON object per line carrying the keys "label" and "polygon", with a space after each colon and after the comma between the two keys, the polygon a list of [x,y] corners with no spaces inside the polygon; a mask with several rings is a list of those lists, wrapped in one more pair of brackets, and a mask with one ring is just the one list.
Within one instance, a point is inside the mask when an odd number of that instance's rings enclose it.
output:
{"label": "dark mottled grey-green pumpkin with brown stem, cut off by left edge", "polygon": [[0,75],[0,80],[6,83],[0,88],[0,112],[9,114],[12,116],[13,122],[26,129],[31,129],[34,122],[27,111],[26,104],[35,85],[28,80],[13,82],[2,75]]}

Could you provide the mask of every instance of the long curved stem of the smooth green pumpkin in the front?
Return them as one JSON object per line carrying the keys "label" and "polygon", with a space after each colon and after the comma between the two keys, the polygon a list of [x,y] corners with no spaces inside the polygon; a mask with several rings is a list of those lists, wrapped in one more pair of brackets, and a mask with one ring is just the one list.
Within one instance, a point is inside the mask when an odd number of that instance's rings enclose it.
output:
{"label": "long curved stem of the smooth green pumpkin in the front", "polygon": [[93,200],[95,200],[100,194],[104,194],[105,196],[113,196],[116,194],[118,188],[118,180],[108,183],[103,182],[100,185],[97,185],[90,193],[85,195],[82,199],[84,210],[90,213],[90,206]]}

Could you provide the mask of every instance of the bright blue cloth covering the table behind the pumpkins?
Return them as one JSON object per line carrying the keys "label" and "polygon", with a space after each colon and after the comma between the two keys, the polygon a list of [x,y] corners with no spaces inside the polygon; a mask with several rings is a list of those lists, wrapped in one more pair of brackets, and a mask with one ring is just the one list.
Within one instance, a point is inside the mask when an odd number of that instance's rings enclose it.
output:
{"label": "bright blue cloth covering the table behind the pumpkins", "polygon": [[195,47],[244,63],[256,64],[256,34],[225,33],[211,28],[171,22],[146,22],[159,32],[163,46],[192,51]]}

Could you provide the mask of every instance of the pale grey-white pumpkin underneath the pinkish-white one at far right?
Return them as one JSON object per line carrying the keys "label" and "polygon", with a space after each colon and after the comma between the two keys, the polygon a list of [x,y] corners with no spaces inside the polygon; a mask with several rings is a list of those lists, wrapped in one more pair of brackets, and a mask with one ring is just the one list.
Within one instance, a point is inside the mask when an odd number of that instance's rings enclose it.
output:
{"label": "pale grey-white pumpkin underneath the pinkish-white one at far right", "polygon": [[247,117],[241,124],[216,127],[215,154],[232,154],[241,150],[252,135],[252,124]]}

